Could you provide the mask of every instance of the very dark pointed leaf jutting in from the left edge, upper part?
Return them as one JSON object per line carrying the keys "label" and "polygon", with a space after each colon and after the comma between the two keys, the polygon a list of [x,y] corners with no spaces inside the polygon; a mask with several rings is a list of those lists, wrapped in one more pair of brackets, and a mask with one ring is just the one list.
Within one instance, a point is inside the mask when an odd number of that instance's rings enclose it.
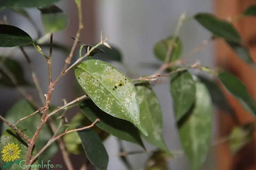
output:
{"label": "very dark pointed leaf jutting in from the left edge, upper part", "polygon": [[32,38],[20,28],[0,24],[0,47],[22,46],[32,41]]}

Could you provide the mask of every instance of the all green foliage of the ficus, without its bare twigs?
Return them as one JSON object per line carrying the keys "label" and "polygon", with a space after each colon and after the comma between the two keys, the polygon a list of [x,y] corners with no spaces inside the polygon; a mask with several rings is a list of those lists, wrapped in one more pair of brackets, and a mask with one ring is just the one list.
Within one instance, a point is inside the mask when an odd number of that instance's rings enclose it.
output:
{"label": "all green foliage of the ficus, without its bare twigs", "polygon": [[[23,0],[20,3],[21,1],[8,0],[4,1],[1,6],[16,12],[21,11],[20,13],[27,18],[29,16],[24,11],[24,7],[38,8],[41,11],[45,34],[49,34],[64,29],[68,23],[67,16],[59,7],[54,5],[57,1]],[[244,11],[243,15],[254,16],[255,11],[255,6],[252,6]],[[194,18],[209,30],[214,38],[225,40],[244,62],[253,64],[249,50],[244,46],[232,23],[220,20],[208,13],[196,14]],[[29,46],[31,44],[36,46],[28,33],[20,28],[0,25],[0,47]],[[92,47],[82,42],[80,42],[80,45],[80,53],[83,47],[85,52],[87,52],[88,47]],[[168,56],[170,47],[172,50],[170,56]],[[108,153],[102,141],[109,135],[138,144],[146,149],[142,140],[144,138],[149,144],[158,148],[158,151],[154,152],[148,159],[145,168],[148,170],[168,169],[167,160],[172,158],[173,155],[164,141],[162,110],[150,82],[139,81],[134,85],[130,78],[109,63],[113,60],[122,62],[120,52],[116,49],[103,48],[96,48],[87,60],[76,66],[77,82],[90,99],[79,103],[80,112],[65,126],[68,129],[84,127],[97,118],[100,119],[100,122],[96,123],[96,126],[91,129],[72,132],[64,136],[63,140],[68,152],[85,154],[92,165],[104,170],[108,167]],[[170,36],[156,43],[154,53],[160,61],[165,63],[179,60],[182,53],[182,42],[177,35]],[[10,70],[16,77],[16,85],[29,84],[23,78],[22,68],[17,61],[1,57],[1,65],[3,67],[0,68],[0,84],[14,86],[3,68]],[[177,66],[170,68],[170,70],[177,69],[179,69]],[[239,78],[226,71],[218,73],[218,78],[228,92],[235,96],[248,112],[253,115],[256,114],[256,103]],[[220,109],[225,109],[230,113],[232,109],[228,106],[225,96],[213,81],[200,78],[186,69],[171,74],[170,79],[170,92],[174,103],[180,142],[191,161],[192,169],[198,170],[204,163],[211,147],[212,102]],[[56,107],[52,106],[52,108]],[[36,109],[38,108],[31,106],[27,100],[21,100],[8,111],[5,118],[14,124],[20,118],[35,112]],[[18,128],[30,137],[31,134],[29,133],[35,133],[40,118],[40,113],[29,117],[23,120]],[[58,121],[56,124],[58,124]],[[231,149],[234,152],[237,152],[246,142],[250,141],[251,131],[253,130],[250,127],[238,127],[230,135]],[[6,125],[3,125],[0,146],[6,145],[7,142],[19,144],[22,146],[20,158],[26,159],[26,143],[12,129],[7,128]],[[241,135],[243,137],[239,137]],[[36,154],[51,137],[51,129],[45,126],[36,141],[33,154]],[[245,139],[246,141],[244,141]],[[84,152],[81,152],[82,148]],[[57,151],[57,144],[52,144],[43,152],[39,160],[50,159]],[[2,160],[1,165],[4,165]],[[15,169],[17,167],[14,165],[11,168]]]}

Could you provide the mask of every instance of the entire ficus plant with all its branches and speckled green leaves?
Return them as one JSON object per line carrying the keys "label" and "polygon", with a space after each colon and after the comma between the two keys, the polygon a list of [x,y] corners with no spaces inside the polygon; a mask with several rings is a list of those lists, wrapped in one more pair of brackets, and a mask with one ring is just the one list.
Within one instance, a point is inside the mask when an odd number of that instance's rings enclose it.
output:
{"label": "entire ficus plant with all its branches and speckled green leaves", "polygon": [[[33,79],[33,82],[29,82],[25,78],[18,61],[10,55],[1,54],[0,84],[16,88],[24,97],[10,108],[5,117],[0,116],[3,121],[0,137],[1,169],[19,169],[21,166],[26,169],[39,169],[41,167],[36,164],[51,159],[60,150],[64,166],[69,170],[74,169],[70,161],[71,154],[84,155],[84,160],[81,160],[82,168],[93,166],[105,170],[108,168],[109,157],[103,143],[111,135],[118,138],[118,156],[127,169],[133,169],[133,163],[126,159],[130,153],[148,154],[148,161],[141,162],[143,169],[169,169],[168,161],[175,159],[176,154],[167,147],[169,141],[164,140],[162,110],[152,89],[153,85],[161,83],[163,77],[170,80],[170,98],[173,101],[182,153],[191,163],[192,170],[201,169],[213,145],[213,106],[234,116],[234,111],[216,80],[238,99],[249,113],[256,115],[255,101],[239,78],[224,69],[209,68],[199,62],[188,64],[184,59],[184,56],[196,54],[209,42],[223,39],[236,52],[237,57],[253,67],[249,50],[244,46],[233,24],[238,19],[255,16],[256,6],[250,6],[236,18],[229,20],[221,20],[210,13],[197,13],[193,17],[186,17],[185,13],[182,13],[175,32],[152,47],[154,55],[162,65],[152,75],[131,79],[129,75],[110,64],[111,61],[123,63],[122,55],[118,49],[111,48],[107,42],[108,37],[104,38],[102,32],[96,45],[86,45],[79,40],[80,33],[84,31],[82,0],[74,1],[79,25],[76,35],[70,38],[72,48],[69,50],[54,42],[53,34],[68,25],[68,16],[54,5],[58,1],[60,0],[1,1],[1,10],[11,9],[27,18],[38,33],[37,38],[32,38],[20,28],[8,25],[6,20],[0,25],[0,46],[20,51],[28,63]],[[43,36],[25,8],[36,8],[40,11],[44,26]],[[185,47],[179,38],[179,32],[187,18],[196,20],[211,32],[212,36],[187,54],[182,54]],[[46,94],[38,82],[30,55],[26,52],[27,48],[35,49],[48,64],[49,72],[45,74],[49,74],[49,86]],[[63,58],[64,65],[57,78],[52,77],[54,48],[63,50],[63,54],[69,53]],[[46,50],[49,50],[49,53],[46,53]],[[62,106],[54,106],[51,102],[52,92],[68,72],[73,72],[83,91],[80,91],[81,95],[76,99],[63,99]],[[198,72],[205,72],[205,75],[214,79],[203,77]],[[35,100],[38,96],[34,97],[26,91],[26,86],[37,90],[40,101]],[[78,107],[80,111],[71,121],[67,121],[67,111],[73,107]],[[225,138],[234,154],[252,139],[253,129],[253,124],[250,123],[237,126]],[[122,141],[137,144],[141,150],[126,151]],[[145,142],[154,145],[155,150],[147,150]]]}

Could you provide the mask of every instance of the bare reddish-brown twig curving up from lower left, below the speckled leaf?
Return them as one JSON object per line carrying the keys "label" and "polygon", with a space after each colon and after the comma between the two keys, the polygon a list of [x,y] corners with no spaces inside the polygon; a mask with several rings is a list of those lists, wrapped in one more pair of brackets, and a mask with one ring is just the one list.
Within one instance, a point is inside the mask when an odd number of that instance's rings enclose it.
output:
{"label": "bare reddish-brown twig curving up from lower left, below the speckled leaf", "polygon": [[93,127],[95,125],[95,123],[99,122],[100,119],[96,119],[91,125],[89,126],[85,126],[83,128],[78,128],[78,129],[72,129],[72,130],[68,130],[64,133],[61,133],[60,135],[56,136],[56,137],[53,137],[51,138],[46,145],[44,145],[44,147],[29,161],[30,164],[32,164],[37,158],[38,156],[43,153],[45,151],[45,149],[47,149],[53,142],[55,142],[57,139],[59,139],[60,137],[62,137],[63,135],[66,135],[68,133],[71,133],[71,132],[75,132],[75,131],[79,131],[79,130],[84,130],[84,129],[89,129],[91,127]]}

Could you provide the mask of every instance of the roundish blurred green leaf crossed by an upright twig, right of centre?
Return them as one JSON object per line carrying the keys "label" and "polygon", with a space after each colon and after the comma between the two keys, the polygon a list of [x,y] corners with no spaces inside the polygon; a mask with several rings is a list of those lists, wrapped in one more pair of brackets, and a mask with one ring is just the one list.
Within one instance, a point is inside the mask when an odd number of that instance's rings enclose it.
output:
{"label": "roundish blurred green leaf crossed by an upright twig, right of centre", "polygon": [[[156,57],[162,62],[165,61],[166,53],[170,45],[172,45],[172,38],[173,36],[168,37],[167,39],[160,40],[155,44],[154,53]],[[176,40],[174,40],[174,45],[172,48],[172,53],[171,53],[169,62],[175,61],[180,58],[180,55],[182,53],[182,48],[183,48],[182,42],[180,38],[177,37]]]}

